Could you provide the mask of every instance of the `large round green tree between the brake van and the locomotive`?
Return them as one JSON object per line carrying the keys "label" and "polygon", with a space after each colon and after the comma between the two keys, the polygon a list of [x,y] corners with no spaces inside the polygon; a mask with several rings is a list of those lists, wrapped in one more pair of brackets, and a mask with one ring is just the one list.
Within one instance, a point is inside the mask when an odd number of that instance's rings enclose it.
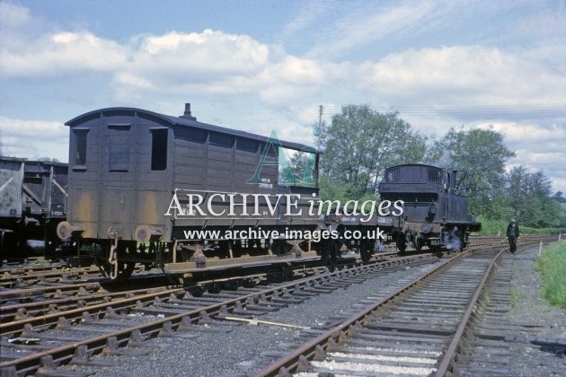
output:
{"label": "large round green tree between the brake van and the locomotive", "polygon": [[323,127],[321,168],[350,198],[375,195],[386,167],[422,161],[426,138],[396,112],[381,114],[368,105],[343,106]]}

